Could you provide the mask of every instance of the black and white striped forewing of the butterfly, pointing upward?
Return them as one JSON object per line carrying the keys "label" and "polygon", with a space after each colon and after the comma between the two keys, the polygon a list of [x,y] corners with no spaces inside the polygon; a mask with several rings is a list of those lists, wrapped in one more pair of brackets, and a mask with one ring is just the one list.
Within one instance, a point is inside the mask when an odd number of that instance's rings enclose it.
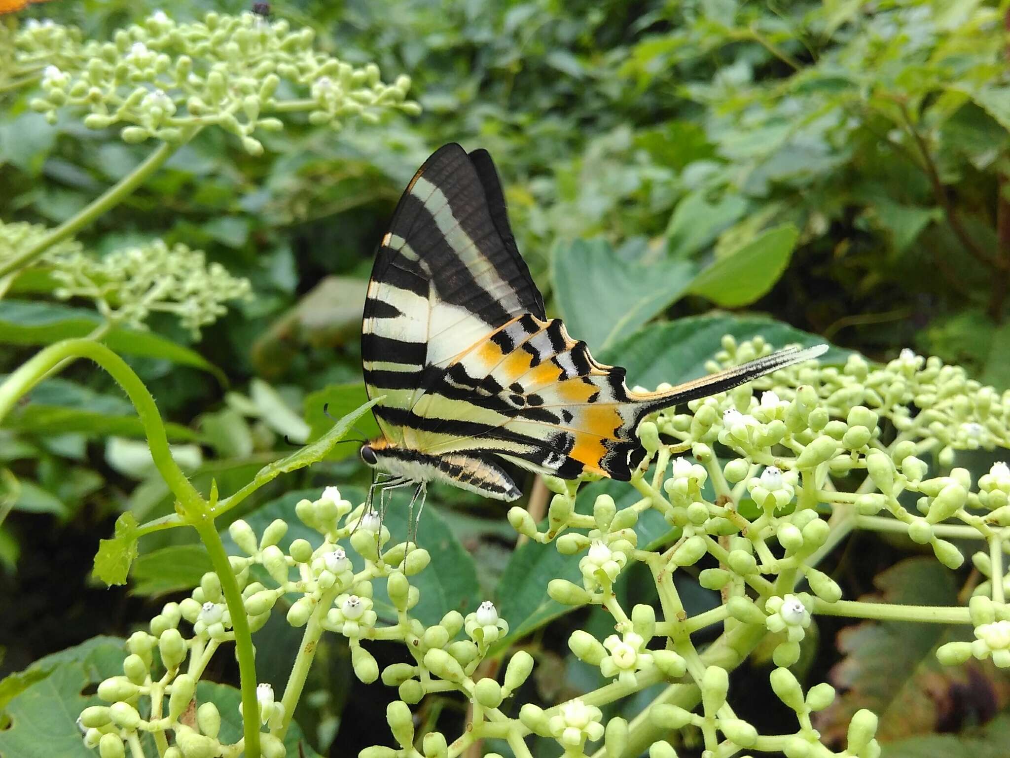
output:
{"label": "black and white striped forewing of the butterfly, pointing upward", "polygon": [[369,282],[362,361],[376,419],[393,445],[417,449],[404,414],[452,358],[543,300],[509,228],[486,151],[435,152],[414,175],[383,236]]}

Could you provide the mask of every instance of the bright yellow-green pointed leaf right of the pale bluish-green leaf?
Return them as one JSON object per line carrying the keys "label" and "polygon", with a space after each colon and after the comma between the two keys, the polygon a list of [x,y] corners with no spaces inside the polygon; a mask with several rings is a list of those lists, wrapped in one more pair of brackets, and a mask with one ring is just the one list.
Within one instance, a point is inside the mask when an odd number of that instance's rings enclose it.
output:
{"label": "bright yellow-green pointed leaf right of the pale bluish-green leaf", "polygon": [[791,223],[768,229],[703,269],[691,282],[691,293],[727,308],[753,302],[779,281],[798,238],[799,231]]}

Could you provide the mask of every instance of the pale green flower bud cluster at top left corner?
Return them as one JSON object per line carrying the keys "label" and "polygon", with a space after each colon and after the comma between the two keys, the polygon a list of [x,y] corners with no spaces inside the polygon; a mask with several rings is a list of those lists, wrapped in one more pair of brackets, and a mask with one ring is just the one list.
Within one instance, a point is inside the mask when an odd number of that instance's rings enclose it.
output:
{"label": "pale green flower bud cluster at top left corner", "polygon": [[214,125],[259,155],[258,134],[281,129],[281,114],[306,112],[312,123],[338,128],[388,110],[419,111],[406,99],[409,77],[385,84],[374,64],[356,68],[313,42],[312,29],[255,13],[179,23],[159,11],[106,42],[26,24],[13,35],[12,55],[21,69],[41,68],[34,110],[55,120],[61,107],[84,109],[86,126],[120,126],[128,143],[180,143]]}

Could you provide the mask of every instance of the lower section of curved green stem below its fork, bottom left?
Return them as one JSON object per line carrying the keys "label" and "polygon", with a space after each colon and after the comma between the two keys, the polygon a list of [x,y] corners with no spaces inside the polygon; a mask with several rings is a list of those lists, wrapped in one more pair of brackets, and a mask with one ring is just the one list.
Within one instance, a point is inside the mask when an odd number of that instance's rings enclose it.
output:
{"label": "lower section of curved green stem below its fork, bottom left", "polygon": [[[214,519],[204,513],[194,519],[200,540],[210,556],[210,565],[221,580],[221,591],[231,614],[231,629],[235,633],[235,655],[238,658],[239,685],[242,690],[242,734],[245,737],[245,758],[260,758],[260,705],[256,699],[256,654],[252,651],[252,633],[238,582],[228,563],[221,536],[217,534]],[[285,715],[287,718],[287,715]]]}

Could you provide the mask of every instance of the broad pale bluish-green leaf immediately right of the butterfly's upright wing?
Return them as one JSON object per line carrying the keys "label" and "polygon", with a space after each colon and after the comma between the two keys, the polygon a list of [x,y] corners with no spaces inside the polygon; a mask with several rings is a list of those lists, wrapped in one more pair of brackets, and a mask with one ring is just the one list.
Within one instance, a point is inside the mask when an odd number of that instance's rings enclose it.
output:
{"label": "broad pale bluish-green leaf immediately right of the butterfly's upright wing", "polygon": [[666,310],[695,271],[666,257],[628,263],[605,240],[576,240],[554,249],[550,277],[569,331],[599,351]]}

